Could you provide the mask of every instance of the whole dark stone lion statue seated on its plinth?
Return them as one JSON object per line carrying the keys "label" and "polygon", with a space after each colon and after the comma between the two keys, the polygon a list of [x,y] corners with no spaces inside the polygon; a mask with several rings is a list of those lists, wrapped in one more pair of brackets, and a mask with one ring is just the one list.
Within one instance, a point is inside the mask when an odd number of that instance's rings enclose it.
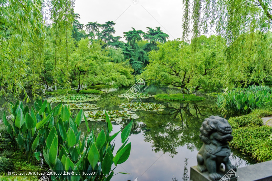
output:
{"label": "whole dark stone lion statue seated on its plinth", "polygon": [[228,121],[219,116],[210,116],[204,119],[200,128],[200,139],[204,142],[197,154],[197,169],[200,172],[209,172],[209,178],[220,180],[218,173],[225,165],[225,172],[236,167],[229,160],[230,148],[228,141],[232,140],[232,127]]}

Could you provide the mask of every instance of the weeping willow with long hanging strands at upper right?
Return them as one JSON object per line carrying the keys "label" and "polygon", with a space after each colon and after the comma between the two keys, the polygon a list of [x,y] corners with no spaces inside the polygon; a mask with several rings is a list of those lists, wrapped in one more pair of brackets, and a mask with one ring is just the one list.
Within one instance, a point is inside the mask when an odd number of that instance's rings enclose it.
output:
{"label": "weeping willow with long hanging strands at upper right", "polygon": [[202,33],[226,39],[225,71],[217,72],[225,87],[264,83],[271,72],[271,0],[183,0],[183,5],[183,40],[191,40],[193,53]]}

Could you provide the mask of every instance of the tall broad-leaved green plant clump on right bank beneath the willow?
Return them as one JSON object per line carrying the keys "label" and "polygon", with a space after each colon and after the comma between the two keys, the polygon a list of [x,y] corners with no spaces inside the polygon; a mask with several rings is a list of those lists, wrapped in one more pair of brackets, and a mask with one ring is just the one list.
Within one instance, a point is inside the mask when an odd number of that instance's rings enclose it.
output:
{"label": "tall broad-leaved green plant clump on right bank beneath the willow", "polygon": [[251,110],[270,103],[269,87],[255,86],[248,89],[237,89],[218,95],[217,105],[223,113],[248,114]]}

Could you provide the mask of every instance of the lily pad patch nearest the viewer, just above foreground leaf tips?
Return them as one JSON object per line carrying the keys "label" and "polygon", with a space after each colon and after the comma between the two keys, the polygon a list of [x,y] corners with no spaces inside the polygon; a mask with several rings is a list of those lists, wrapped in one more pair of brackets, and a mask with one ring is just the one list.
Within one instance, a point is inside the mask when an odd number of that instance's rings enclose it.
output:
{"label": "lily pad patch nearest the viewer, just above foreground leaf tips", "polygon": [[[125,119],[137,119],[139,116],[134,114],[131,111],[125,110],[113,110],[107,111],[108,117],[111,121],[122,121]],[[84,115],[86,116],[88,121],[106,121],[105,110],[100,111],[84,111]]]}

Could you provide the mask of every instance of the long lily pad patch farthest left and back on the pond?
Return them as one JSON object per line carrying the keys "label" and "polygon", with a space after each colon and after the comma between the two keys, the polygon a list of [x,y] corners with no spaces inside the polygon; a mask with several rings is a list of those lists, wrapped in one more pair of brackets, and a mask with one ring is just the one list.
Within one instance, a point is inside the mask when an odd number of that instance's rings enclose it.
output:
{"label": "long lily pad patch farthest left and back on the pond", "polygon": [[98,101],[101,95],[95,94],[68,94],[57,95],[55,97],[47,98],[47,102],[86,102],[86,101]]}

